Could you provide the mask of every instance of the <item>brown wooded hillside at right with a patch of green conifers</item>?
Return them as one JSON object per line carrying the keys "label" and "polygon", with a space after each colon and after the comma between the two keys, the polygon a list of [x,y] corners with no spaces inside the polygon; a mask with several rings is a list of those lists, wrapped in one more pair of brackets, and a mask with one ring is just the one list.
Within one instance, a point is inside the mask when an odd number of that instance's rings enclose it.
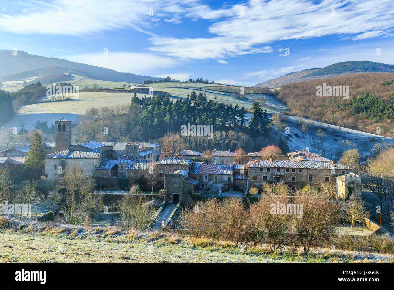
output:
{"label": "brown wooded hillside at right with a patch of green conifers", "polygon": [[[394,124],[394,73],[362,73],[336,78],[308,80],[284,84],[277,97],[285,102],[293,115],[343,125],[375,133],[390,133]],[[316,86],[348,85],[349,99],[343,97],[316,97]],[[348,125],[345,125],[348,124]],[[357,127],[359,126],[359,127]]]}

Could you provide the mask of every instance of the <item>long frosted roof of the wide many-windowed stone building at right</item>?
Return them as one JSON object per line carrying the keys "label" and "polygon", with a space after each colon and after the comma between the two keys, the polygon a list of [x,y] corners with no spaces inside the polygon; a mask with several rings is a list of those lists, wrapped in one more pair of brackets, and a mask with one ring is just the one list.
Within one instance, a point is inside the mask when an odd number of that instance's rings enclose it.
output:
{"label": "long frosted roof of the wide many-windowed stone building at right", "polygon": [[342,164],[323,161],[256,160],[248,162],[247,167],[311,168],[311,169],[351,169]]}

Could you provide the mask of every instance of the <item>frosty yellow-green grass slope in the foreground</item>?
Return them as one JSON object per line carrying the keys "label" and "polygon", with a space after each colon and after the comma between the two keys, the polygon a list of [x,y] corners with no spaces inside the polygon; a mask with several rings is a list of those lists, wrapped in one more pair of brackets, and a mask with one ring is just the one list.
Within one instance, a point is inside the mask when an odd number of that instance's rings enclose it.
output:
{"label": "frosty yellow-green grass slope in the foreground", "polygon": [[387,262],[388,255],[320,250],[267,253],[163,232],[122,232],[0,218],[0,262]]}

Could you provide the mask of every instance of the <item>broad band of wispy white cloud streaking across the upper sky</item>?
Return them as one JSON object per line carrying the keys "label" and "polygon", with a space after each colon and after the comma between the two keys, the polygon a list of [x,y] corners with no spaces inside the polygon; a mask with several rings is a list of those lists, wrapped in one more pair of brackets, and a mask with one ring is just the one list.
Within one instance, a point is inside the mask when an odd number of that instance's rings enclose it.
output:
{"label": "broad band of wispy white cloud streaking across the upper sky", "polygon": [[[355,41],[385,37],[394,27],[392,0],[249,0],[243,4],[223,4],[217,9],[211,8],[209,2],[203,4],[202,0],[25,2],[19,14],[0,13],[0,30],[85,36],[132,28],[152,36],[149,51],[182,60],[220,62],[239,55],[270,53],[271,43],[279,40],[329,35]],[[335,16],[331,16],[331,9],[335,9]],[[160,19],[181,23],[184,18],[212,21],[207,28],[201,26],[212,36],[180,38],[171,32],[156,35],[148,31],[162,24]]]}

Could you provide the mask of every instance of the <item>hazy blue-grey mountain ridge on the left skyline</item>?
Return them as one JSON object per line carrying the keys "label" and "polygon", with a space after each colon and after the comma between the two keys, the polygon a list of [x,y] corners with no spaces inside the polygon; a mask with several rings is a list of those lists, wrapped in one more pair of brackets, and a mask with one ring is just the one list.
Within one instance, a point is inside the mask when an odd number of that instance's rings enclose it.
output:
{"label": "hazy blue-grey mountain ridge on the left skyline", "polygon": [[[141,83],[144,80],[162,80],[163,78],[151,77],[149,75],[136,75],[134,73],[120,73],[113,69],[98,67],[95,65],[70,62],[60,58],[49,58],[35,54],[28,54],[18,51],[17,55],[11,50],[0,50],[0,79],[20,80],[37,75],[44,77],[46,83],[54,80],[54,75],[58,81],[67,80],[65,73],[82,75],[89,79],[108,80],[115,82]],[[62,77],[63,75],[63,77]]]}

